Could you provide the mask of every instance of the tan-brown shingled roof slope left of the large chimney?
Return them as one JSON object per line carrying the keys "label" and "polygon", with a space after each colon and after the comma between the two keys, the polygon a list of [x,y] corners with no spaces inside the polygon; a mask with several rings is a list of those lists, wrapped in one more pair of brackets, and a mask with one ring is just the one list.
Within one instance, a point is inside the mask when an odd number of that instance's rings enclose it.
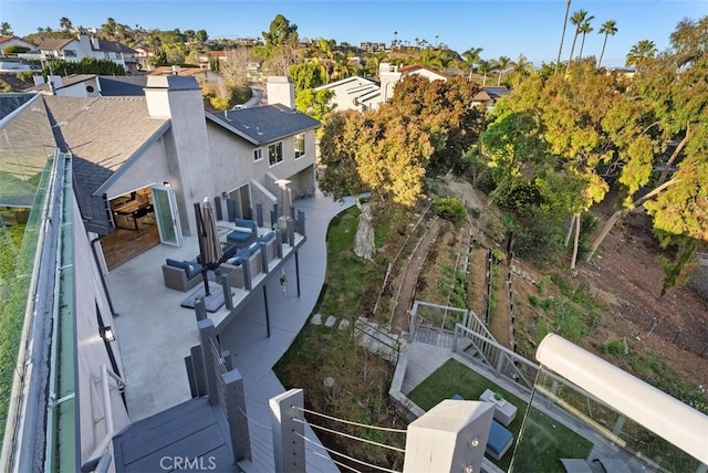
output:
{"label": "tan-brown shingled roof slope left of the large chimney", "polygon": [[73,155],[74,191],[87,228],[104,233],[110,223],[97,190],[163,135],[169,120],[152,118],[143,97],[44,96],[44,102],[56,146]]}

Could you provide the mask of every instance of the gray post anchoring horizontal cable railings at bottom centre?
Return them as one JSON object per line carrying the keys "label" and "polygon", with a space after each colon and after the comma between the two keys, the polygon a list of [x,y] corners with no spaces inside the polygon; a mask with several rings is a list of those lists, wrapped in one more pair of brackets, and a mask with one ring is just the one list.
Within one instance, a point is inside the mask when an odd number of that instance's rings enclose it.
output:
{"label": "gray post anchoring horizontal cable railings at bottom centre", "polygon": [[302,389],[270,398],[271,432],[277,472],[305,472],[305,425]]}

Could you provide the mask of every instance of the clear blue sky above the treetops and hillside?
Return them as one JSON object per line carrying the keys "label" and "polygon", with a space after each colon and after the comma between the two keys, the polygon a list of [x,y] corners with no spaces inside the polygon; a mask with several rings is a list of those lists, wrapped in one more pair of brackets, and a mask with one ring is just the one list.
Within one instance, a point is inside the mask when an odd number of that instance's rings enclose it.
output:
{"label": "clear blue sky above the treetops and hillside", "polygon": [[[535,65],[552,62],[558,54],[565,0],[0,0],[0,21],[18,35],[38,27],[59,29],[67,17],[74,25],[98,28],[111,17],[119,23],[145,29],[205,29],[210,38],[261,36],[282,13],[298,25],[301,38],[326,38],[358,44],[391,43],[394,31],[402,41],[437,41],[464,52],[482,48],[482,59],[524,54]],[[639,40],[652,40],[659,50],[668,46],[670,33],[684,18],[708,14],[706,0],[573,0],[571,13],[584,9],[595,15],[594,31],[583,54],[600,55],[606,20],[617,22],[603,64],[624,65],[624,56]],[[572,29],[566,32],[563,57],[570,54]],[[580,49],[580,42],[575,49]]]}

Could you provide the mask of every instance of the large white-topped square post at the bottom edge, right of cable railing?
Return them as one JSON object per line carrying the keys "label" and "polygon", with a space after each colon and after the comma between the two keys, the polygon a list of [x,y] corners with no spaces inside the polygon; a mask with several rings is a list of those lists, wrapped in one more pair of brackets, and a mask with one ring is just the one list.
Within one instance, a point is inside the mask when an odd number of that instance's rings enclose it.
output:
{"label": "large white-topped square post at the bottom edge, right of cable railing", "polygon": [[403,473],[480,472],[491,402],[446,399],[408,425]]}

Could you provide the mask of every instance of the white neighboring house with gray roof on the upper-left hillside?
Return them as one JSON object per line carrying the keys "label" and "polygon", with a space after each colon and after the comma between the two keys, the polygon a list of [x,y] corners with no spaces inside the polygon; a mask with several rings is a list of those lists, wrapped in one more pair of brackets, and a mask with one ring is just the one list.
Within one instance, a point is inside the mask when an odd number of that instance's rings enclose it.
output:
{"label": "white neighboring house with gray roof on the upper-left hillside", "polygon": [[117,41],[104,41],[79,33],[76,38],[44,40],[39,45],[44,62],[81,61],[84,57],[111,60],[129,72],[137,72],[137,52]]}

